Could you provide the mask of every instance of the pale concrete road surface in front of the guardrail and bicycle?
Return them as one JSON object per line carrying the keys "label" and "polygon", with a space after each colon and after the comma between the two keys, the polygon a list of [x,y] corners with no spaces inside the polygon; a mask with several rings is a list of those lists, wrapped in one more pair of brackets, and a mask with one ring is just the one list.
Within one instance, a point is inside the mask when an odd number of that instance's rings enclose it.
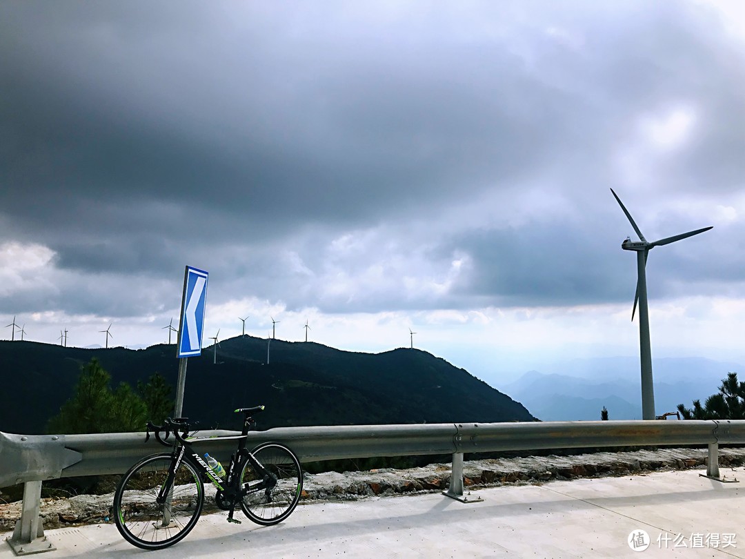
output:
{"label": "pale concrete road surface in front of the guardrail and bicycle", "polygon": [[[112,523],[60,528],[46,531],[57,551],[37,557],[745,558],[745,475],[742,483],[723,484],[700,473],[473,491],[471,497],[482,502],[461,503],[440,493],[313,502],[269,527],[247,519],[232,525],[225,514],[212,514],[159,552],[130,546]],[[13,557],[2,542],[0,559]]]}

